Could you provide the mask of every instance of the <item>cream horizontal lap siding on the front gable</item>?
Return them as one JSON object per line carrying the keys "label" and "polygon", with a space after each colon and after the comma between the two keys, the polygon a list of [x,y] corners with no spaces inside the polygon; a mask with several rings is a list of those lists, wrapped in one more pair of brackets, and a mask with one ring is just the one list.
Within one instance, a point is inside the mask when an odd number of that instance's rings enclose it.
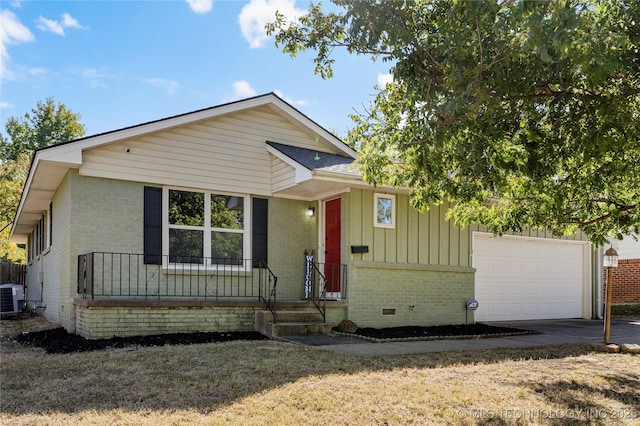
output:
{"label": "cream horizontal lap siding on the front gable", "polygon": [[273,193],[266,141],[336,152],[265,106],[87,150],[80,174],[266,196]]}

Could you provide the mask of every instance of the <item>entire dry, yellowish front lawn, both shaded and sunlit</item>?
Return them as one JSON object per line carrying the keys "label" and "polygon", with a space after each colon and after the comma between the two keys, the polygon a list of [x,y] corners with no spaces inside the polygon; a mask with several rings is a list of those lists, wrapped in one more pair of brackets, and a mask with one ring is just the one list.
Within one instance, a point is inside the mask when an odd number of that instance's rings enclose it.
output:
{"label": "entire dry, yellowish front lawn, both shaded and sunlit", "polygon": [[588,345],[356,357],[237,341],[46,355],[3,339],[0,356],[2,425],[640,421],[640,357]]}

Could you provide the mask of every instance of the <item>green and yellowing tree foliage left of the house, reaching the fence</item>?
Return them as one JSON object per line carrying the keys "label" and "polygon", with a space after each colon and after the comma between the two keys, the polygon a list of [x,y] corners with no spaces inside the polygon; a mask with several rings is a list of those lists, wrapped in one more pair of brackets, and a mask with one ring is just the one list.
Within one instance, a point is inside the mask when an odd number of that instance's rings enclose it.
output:
{"label": "green and yellowing tree foliage left of the house, reaching the fence", "polygon": [[38,102],[32,114],[20,120],[10,117],[0,135],[0,259],[24,261],[24,250],[9,242],[11,224],[20,203],[20,195],[29,175],[30,159],[36,149],[84,136],[80,115],[74,114],[52,98]]}

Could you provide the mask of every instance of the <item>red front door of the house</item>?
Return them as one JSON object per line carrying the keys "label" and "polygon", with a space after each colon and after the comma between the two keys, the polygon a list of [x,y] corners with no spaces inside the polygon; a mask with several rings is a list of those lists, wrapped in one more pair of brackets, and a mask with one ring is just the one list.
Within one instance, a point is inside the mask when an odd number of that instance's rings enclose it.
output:
{"label": "red front door of the house", "polygon": [[340,292],[340,198],[325,204],[324,276],[327,293]]}

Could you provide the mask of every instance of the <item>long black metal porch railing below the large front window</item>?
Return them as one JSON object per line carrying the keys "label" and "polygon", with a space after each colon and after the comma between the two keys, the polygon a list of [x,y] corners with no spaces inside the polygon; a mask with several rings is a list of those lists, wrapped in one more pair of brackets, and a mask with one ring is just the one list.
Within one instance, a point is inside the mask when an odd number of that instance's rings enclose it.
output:
{"label": "long black metal porch railing below the large front window", "polygon": [[[92,252],[78,256],[78,293],[90,299],[258,298],[275,306],[277,277],[262,261]],[[270,308],[271,309],[271,308]]]}

